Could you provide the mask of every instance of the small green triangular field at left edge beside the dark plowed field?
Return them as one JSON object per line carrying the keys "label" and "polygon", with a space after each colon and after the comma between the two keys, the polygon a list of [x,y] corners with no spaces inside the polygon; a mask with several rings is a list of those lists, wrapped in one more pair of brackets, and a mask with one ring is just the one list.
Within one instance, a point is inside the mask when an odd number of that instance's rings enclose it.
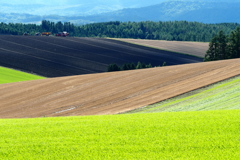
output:
{"label": "small green triangular field at left edge beside the dark plowed field", "polygon": [[0,67],[0,84],[44,79],[44,77]]}

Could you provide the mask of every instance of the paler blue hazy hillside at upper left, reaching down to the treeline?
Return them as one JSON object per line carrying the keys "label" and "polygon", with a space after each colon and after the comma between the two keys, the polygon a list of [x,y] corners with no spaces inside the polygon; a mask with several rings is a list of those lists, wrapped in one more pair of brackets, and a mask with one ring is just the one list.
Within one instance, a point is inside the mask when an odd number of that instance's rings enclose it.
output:
{"label": "paler blue hazy hillside at upper left, reaching down to the treeline", "polygon": [[[1,22],[38,23],[42,19],[75,22],[75,17],[96,15],[124,8],[139,8],[161,3],[165,0],[1,0]],[[70,17],[69,17],[70,16]],[[82,23],[78,18],[77,23]],[[83,23],[90,21],[84,20]]]}

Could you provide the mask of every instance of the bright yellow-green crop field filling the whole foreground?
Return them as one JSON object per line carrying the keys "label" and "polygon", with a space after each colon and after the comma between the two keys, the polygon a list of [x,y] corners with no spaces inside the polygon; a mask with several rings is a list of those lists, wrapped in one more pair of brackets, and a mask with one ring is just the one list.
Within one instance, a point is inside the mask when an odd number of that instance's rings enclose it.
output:
{"label": "bright yellow-green crop field filling the whole foreground", "polygon": [[0,159],[232,159],[240,110],[0,120]]}

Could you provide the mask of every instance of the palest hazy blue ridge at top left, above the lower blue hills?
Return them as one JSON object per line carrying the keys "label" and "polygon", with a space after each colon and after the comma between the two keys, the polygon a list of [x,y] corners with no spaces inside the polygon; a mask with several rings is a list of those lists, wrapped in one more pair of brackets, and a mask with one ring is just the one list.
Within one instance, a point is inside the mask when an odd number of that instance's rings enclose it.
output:
{"label": "palest hazy blue ridge at top left, above the lower blue hills", "polygon": [[161,3],[165,0],[22,0],[10,2],[3,0],[1,13],[24,13],[34,15],[85,16],[116,11],[124,8],[138,8]]}

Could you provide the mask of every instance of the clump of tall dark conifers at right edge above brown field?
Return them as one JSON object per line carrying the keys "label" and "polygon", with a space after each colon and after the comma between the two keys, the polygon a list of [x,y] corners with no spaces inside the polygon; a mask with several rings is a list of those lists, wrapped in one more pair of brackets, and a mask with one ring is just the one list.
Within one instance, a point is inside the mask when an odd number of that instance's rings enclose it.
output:
{"label": "clump of tall dark conifers at right edge above brown field", "polygon": [[240,58],[240,27],[226,35],[220,31],[210,42],[205,61]]}

